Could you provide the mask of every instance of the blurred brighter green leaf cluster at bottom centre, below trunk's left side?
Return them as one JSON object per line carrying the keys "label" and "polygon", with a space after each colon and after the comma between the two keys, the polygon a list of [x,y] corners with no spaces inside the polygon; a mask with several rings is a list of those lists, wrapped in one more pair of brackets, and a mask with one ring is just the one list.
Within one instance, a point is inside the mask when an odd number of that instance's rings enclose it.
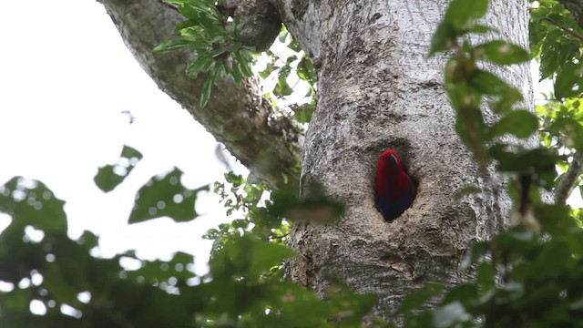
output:
{"label": "blurred brighter green leaf cluster at bottom centre, below trunk's left side", "polygon": [[294,282],[267,274],[293,252],[283,245],[245,234],[224,244],[210,259],[212,292],[202,327],[355,327],[376,303],[372,294],[356,294],[334,285],[322,300]]}

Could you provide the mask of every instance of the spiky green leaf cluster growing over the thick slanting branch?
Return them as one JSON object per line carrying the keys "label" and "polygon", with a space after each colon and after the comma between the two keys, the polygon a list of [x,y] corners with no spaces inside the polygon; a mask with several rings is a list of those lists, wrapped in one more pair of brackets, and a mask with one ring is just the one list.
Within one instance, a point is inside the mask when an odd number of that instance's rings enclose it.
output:
{"label": "spiky green leaf cluster growing over the thick slanting branch", "polygon": [[176,26],[179,38],[168,40],[154,48],[158,52],[182,48],[193,50],[186,72],[196,78],[207,73],[202,87],[199,106],[204,107],[210,98],[215,80],[232,77],[240,86],[243,77],[251,77],[253,48],[242,45],[237,31],[245,24],[239,17],[230,17],[214,0],[165,0],[178,5],[180,14],[187,20]]}

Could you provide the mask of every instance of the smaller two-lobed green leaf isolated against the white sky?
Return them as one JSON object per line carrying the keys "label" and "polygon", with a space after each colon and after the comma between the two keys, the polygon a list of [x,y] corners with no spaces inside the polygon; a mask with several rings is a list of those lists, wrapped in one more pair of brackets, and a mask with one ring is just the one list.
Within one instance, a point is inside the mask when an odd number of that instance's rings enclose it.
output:
{"label": "smaller two-lobed green leaf isolated against the white sky", "polygon": [[140,159],[142,159],[142,154],[138,150],[124,145],[119,155],[118,163],[100,167],[93,180],[100,190],[105,192],[114,190],[128,177]]}

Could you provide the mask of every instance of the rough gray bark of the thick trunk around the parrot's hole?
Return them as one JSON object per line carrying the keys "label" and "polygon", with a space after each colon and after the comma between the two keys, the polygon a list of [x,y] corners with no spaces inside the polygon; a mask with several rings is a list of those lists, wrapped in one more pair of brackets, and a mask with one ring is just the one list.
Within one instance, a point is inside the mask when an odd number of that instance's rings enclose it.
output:
{"label": "rough gray bark of the thick trunk around the parrot's hole", "polygon": [[[284,24],[320,67],[302,185],[318,180],[348,206],[338,225],[292,231],[292,247],[302,256],[290,263],[288,274],[318,292],[330,275],[357,292],[374,292],[382,315],[424,282],[463,281],[458,263],[468,244],[486,239],[488,220],[503,220],[509,211],[505,180],[492,168],[480,169],[455,134],[455,114],[442,86],[443,58],[424,57],[446,5],[278,0]],[[487,23],[527,46],[527,5],[492,1]],[[526,65],[501,72],[532,97]],[[413,207],[393,223],[373,207],[374,169],[384,149],[397,149],[420,182]],[[455,200],[468,185],[496,193]]]}

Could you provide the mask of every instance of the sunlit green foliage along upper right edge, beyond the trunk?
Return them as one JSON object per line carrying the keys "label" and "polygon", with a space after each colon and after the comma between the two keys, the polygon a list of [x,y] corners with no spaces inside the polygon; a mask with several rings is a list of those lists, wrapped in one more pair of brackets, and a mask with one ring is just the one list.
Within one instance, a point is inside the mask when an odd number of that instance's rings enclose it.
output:
{"label": "sunlit green foliage along upper right edge, beyond the trunk", "polygon": [[[577,3],[573,5],[580,7]],[[530,12],[531,52],[540,64],[541,80],[547,79],[553,85],[553,92],[546,96],[547,102],[537,106],[540,138],[547,148],[565,155],[557,162],[565,173],[575,155],[583,150],[580,109],[583,29],[557,1],[538,1]],[[563,178],[561,174],[557,182]],[[579,190],[583,187],[580,177],[576,186]]]}

